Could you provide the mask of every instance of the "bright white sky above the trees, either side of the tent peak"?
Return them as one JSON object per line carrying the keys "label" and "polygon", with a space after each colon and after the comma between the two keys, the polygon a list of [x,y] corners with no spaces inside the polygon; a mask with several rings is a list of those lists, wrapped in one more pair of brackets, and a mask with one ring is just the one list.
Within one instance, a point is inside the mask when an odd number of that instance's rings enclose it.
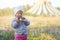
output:
{"label": "bright white sky above the trees, either side of the tent peak", "polygon": [[[37,0],[0,0],[0,8],[33,5]],[[54,7],[60,7],[60,0],[49,0]]]}

